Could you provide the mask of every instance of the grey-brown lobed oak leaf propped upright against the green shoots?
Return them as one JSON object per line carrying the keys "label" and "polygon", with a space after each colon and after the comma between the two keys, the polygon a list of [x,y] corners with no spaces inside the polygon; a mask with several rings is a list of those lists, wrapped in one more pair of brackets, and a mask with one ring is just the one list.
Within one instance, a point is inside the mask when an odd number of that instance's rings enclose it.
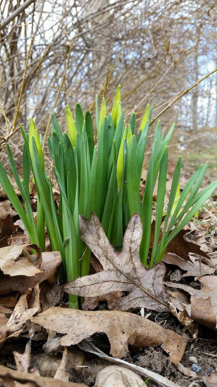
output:
{"label": "grey-brown lobed oak leaf propped upright against the green shoots", "polygon": [[79,214],[81,239],[90,247],[103,266],[103,271],[75,279],[64,285],[64,291],[78,296],[95,297],[111,291],[126,291],[119,310],[143,307],[156,311],[169,310],[169,296],[164,288],[165,266],[157,263],[146,270],[139,258],[142,222],[134,214],[125,231],[123,247],[117,252],[110,244],[98,217]]}

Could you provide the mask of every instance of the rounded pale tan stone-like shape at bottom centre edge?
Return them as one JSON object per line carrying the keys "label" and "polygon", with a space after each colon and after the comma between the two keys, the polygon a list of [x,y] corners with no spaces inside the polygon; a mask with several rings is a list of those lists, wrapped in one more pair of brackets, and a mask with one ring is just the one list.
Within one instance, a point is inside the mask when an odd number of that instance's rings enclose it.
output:
{"label": "rounded pale tan stone-like shape at bottom centre edge", "polygon": [[96,387],[140,387],[142,378],[127,368],[109,365],[103,368],[95,380]]}

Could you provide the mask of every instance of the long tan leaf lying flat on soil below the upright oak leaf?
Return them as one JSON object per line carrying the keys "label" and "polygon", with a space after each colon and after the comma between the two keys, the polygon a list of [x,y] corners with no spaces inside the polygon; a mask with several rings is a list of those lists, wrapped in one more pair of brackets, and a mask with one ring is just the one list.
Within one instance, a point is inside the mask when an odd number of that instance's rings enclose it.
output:
{"label": "long tan leaf lying flat on soil below the upright oak leaf", "polygon": [[185,351],[187,336],[180,336],[155,322],[132,313],[118,311],[85,312],[65,308],[49,308],[30,320],[46,329],[63,334],[62,346],[75,345],[95,332],[104,332],[110,341],[110,353],[124,357],[128,345],[134,348],[161,345],[178,363]]}

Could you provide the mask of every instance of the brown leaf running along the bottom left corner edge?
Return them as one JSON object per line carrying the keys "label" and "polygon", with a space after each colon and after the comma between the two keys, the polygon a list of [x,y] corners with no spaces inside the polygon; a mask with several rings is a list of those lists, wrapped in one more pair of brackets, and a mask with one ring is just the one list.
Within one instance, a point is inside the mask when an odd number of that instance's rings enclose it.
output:
{"label": "brown leaf running along the bottom left corner edge", "polygon": [[63,382],[62,380],[53,379],[49,377],[38,376],[35,373],[24,373],[12,370],[3,365],[0,365],[0,377],[3,379],[10,378],[26,384],[26,382],[33,382],[37,387],[87,387],[83,383]]}

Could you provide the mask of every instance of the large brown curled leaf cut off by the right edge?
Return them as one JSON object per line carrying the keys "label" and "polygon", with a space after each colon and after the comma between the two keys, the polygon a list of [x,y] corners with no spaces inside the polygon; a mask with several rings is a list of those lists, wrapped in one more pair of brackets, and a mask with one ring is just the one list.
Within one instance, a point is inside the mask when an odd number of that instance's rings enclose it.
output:
{"label": "large brown curled leaf cut off by the right edge", "polygon": [[202,283],[202,289],[170,282],[165,284],[188,292],[191,295],[191,303],[187,305],[179,301],[188,316],[208,328],[217,330],[217,276],[202,276],[197,279]]}

